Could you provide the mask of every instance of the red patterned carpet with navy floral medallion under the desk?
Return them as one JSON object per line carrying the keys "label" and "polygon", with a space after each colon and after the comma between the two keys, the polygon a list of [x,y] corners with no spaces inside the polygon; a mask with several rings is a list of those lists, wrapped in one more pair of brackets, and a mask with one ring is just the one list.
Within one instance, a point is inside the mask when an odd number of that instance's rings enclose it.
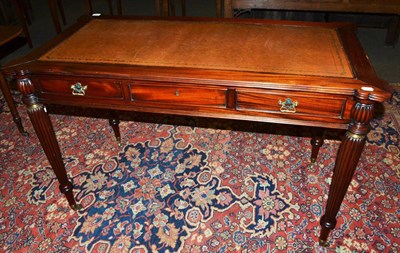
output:
{"label": "red patterned carpet with navy floral medallion under the desk", "polygon": [[310,138],[278,125],[152,116],[122,121],[120,148],[107,120],[51,116],[75,212],[18,108],[30,137],[0,99],[0,252],[399,252],[399,91],[372,123],[328,248],[317,238],[337,140],[311,166]]}

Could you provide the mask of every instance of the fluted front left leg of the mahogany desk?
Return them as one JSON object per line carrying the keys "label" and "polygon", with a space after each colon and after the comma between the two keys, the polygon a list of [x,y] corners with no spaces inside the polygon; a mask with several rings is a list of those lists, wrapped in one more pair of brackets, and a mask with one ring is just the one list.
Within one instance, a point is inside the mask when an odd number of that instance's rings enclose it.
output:
{"label": "fluted front left leg of the mahogany desk", "polygon": [[68,179],[61,157],[60,147],[50,117],[47,114],[46,107],[39,102],[39,99],[34,94],[35,89],[31,80],[23,74],[17,77],[17,87],[23,95],[23,102],[27,106],[29,118],[39,138],[40,144],[60,183],[60,191],[65,194],[72,209],[80,209],[82,206],[75,202],[72,191],[73,185]]}

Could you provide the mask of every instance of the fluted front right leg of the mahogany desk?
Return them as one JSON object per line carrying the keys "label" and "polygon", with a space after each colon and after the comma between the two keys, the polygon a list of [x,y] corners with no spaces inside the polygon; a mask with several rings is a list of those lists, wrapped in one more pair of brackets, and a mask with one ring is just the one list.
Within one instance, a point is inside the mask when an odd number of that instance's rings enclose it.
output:
{"label": "fluted front right leg of the mahogany desk", "polygon": [[352,109],[352,123],[339,147],[325,215],[320,222],[322,230],[319,243],[322,246],[328,245],[329,232],[336,226],[336,215],[360,159],[373,111],[374,106],[370,101],[358,101]]}

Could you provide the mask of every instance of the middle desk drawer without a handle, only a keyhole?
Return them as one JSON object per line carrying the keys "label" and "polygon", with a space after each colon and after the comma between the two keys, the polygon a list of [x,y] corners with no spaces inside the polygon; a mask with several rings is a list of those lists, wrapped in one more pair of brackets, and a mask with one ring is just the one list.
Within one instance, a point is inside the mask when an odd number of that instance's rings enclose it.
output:
{"label": "middle desk drawer without a handle, only a keyhole", "polygon": [[131,100],[164,106],[225,107],[226,89],[175,83],[131,83]]}

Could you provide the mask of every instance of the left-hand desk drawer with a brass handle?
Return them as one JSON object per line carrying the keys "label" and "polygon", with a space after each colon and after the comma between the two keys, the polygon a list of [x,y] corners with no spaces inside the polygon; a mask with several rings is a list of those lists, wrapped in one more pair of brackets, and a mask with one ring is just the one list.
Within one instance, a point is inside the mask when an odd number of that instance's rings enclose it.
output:
{"label": "left-hand desk drawer with a brass handle", "polygon": [[75,96],[79,98],[122,99],[120,82],[95,78],[41,77],[37,83],[44,94]]}

